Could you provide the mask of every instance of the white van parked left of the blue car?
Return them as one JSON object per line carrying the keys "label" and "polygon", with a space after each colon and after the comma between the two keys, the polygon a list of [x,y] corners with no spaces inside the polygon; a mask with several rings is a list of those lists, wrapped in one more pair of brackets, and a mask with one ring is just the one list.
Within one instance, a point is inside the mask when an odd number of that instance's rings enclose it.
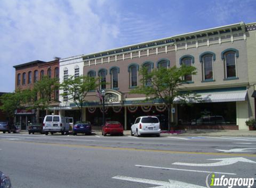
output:
{"label": "white van parked left of the blue car", "polygon": [[43,132],[45,135],[61,132],[62,135],[68,134],[69,120],[62,115],[46,115],[43,120]]}

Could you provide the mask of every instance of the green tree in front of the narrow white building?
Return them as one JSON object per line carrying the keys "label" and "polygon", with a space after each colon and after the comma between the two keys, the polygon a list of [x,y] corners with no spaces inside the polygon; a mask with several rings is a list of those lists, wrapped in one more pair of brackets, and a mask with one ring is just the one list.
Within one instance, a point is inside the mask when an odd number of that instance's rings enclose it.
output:
{"label": "green tree in front of the narrow white building", "polygon": [[97,86],[99,86],[98,78],[88,76],[70,76],[60,84],[60,89],[64,91],[61,95],[79,108],[80,121],[83,120],[83,106],[86,102],[84,98],[89,91],[96,90]]}

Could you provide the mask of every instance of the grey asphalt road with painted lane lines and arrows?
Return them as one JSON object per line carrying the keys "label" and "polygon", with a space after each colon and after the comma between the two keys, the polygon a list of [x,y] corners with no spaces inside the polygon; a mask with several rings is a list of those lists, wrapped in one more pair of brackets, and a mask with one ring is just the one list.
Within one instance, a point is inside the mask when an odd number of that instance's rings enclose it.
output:
{"label": "grey asphalt road with painted lane lines and arrows", "polygon": [[200,188],[256,178],[256,137],[0,134],[0,171],[13,188]]}

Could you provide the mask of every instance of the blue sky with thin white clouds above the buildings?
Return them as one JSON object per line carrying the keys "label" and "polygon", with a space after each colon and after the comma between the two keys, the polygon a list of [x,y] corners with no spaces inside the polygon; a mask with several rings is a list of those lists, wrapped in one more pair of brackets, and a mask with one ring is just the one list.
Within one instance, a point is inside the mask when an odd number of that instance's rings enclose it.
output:
{"label": "blue sky with thin white clouds above the buildings", "polygon": [[0,0],[0,92],[15,69],[244,21],[256,0]]}

